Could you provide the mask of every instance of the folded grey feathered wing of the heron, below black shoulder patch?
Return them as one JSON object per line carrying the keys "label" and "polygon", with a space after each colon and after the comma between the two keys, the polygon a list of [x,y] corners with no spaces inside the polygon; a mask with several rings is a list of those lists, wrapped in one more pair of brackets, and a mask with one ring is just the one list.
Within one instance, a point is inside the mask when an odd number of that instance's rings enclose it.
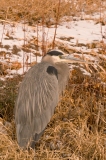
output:
{"label": "folded grey feathered wing of the heron, below black shoulder patch", "polygon": [[46,72],[48,65],[40,63],[32,67],[20,85],[15,121],[21,146],[45,129],[58,103],[58,80]]}

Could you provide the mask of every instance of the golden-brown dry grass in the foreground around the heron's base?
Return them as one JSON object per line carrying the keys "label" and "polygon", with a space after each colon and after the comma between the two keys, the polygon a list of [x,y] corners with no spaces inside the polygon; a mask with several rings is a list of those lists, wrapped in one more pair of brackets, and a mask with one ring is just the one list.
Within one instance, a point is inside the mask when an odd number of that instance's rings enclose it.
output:
{"label": "golden-brown dry grass in the foreground around the heron's base", "polygon": [[101,78],[100,74],[89,77],[75,68],[35,151],[22,151],[18,147],[12,122],[8,135],[0,134],[0,158],[105,160],[106,85],[101,83],[104,79],[105,74]]}

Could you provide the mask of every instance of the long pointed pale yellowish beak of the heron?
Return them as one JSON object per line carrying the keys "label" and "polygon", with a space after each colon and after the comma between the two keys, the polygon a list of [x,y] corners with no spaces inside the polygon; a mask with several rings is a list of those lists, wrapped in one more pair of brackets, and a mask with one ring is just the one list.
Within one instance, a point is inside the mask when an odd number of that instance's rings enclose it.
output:
{"label": "long pointed pale yellowish beak of the heron", "polygon": [[86,63],[86,64],[92,64],[93,62],[88,62],[81,60],[79,58],[75,58],[69,54],[61,55],[60,56],[61,61],[66,62],[66,63]]}

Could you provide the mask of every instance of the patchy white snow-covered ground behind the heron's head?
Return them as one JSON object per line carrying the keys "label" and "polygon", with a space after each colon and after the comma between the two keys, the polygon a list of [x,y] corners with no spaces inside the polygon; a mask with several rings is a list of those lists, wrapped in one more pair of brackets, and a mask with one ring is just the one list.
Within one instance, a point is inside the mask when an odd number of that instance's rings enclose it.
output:
{"label": "patchy white snow-covered ground behind the heron's head", "polygon": [[[56,48],[62,49],[73,57],[87,61],[98,62],[99,58],[106,59],[106,55],[99,54],[101,45],[106,44],[106,24],[96,23],[94,20],[81,20],[77,17],[64,18],[57,28]],[[87,16],[86,16],[87,17]],[[90,18],[88,18],[90,19]],[[67,22],[66,22],[67,21]],[[47,49],[51,48],[55,27],[43,28]],[[37,28],[27,24],[0,23],[0,65],[6,69],[5,77],[13,74],[23,74],[32,64],[40,62],[42,51],[42,26]],[[25,46],[28,48],[26,49]],[[39,56],[36,56],[39,54]],[[4,75],[1,74],[1,79]]]}

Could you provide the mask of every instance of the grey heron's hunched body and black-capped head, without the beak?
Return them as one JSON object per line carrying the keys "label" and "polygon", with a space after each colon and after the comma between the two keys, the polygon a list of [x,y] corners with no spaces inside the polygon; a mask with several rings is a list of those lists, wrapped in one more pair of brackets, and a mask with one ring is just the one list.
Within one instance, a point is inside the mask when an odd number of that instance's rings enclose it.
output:
{"label": "grey heron's hunched body and black-capped head, without the beak", "polygon": [[26,73],[15,106],[16,135],[20,147],[34,148],[50,122],[68,82],[67,61],[62,52],[50,51],[41,63]]}

